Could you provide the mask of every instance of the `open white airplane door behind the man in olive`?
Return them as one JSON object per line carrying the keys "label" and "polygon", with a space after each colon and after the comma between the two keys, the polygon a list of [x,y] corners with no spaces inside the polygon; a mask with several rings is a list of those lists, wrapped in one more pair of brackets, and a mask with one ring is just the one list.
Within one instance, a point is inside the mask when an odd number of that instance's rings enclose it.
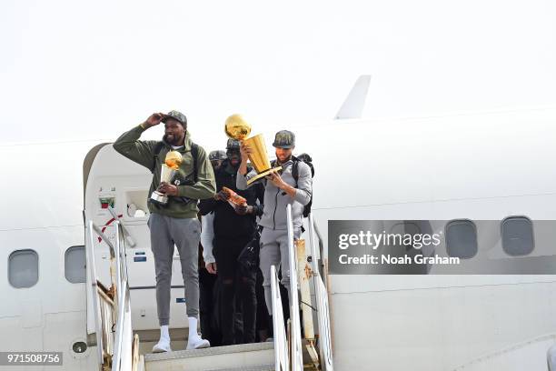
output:
{"label": "open white airplane door behind the man in olive", "polygon": [[[109,210],[112,207],[134,243],[134,246],[130,246],[131,240],[127,238],[125,244],[134,330],[159,327],[155,298],[154,258],[147,226],[149,218],[147,196],[151,180],[152,175],[148,169],[119,155],[110,144],[98,145],[85,158],[85,224],[88,220],[93,220],[96,226],[104,229],[106,236],[111,240],[114,239],[115,219]],[[88,236],[86,239],[89,239]],[[97,276],[101,277],[105,286],[110,286],[108,247],[96,238],[94,240],[94,258]],[[87,287],[89,288],[89,286]],[[91,293],[87,297],[91,297]],[[187,326],[184,306],[184,281],[179,256],[175,249],[170,305],[171,327]],[[89,304],[87,309],[89,309]],[[94,322],[90,322],[89,313],[92,313],[92,306],[91,310],[87,311],[87,324],[94,325]]]}

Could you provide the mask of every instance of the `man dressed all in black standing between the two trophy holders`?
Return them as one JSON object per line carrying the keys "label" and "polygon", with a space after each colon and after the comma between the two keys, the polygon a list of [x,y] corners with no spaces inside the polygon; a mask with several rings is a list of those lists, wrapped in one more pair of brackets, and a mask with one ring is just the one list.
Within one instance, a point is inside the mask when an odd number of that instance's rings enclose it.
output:
{"label": "man dressed all in black standing between the two trophy holders", "polygon": [[[223,345],[253,343],[255,339],[255,274],[256,271],[245,269],[237,257],[255,234],[256,216],[263,214],[263,186],[255,186],[240,191],[235,186],[237,170],[241,163],[240,143],[229,139],[226,145],[227,159],[215,170],[216,190],[213,199],[203,200],[199,208],[202,215],[214,212],[213,255],[216,259],[216,272],[222,280],[220,296],[221,328]],[[231,206],[222,191],[223,186],[232,189],[247,201],[246,206]],[[257,205],[257,199],[260,204]],[[234,308],[235,296],[242,304],[243,341],[235,339],[233,331],[233,314],[240,308]]]}

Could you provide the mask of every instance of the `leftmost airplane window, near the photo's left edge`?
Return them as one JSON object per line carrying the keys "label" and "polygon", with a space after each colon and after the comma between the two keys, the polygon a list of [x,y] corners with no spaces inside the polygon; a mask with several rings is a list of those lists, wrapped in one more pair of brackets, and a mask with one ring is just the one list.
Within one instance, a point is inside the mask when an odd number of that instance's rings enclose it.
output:
{"label": "leftmost airplane window, near the photo's left edge", "polygon": [[15,288],[38,282],[38,255],[34,250],[16,250],[8,257],[8,281]]}

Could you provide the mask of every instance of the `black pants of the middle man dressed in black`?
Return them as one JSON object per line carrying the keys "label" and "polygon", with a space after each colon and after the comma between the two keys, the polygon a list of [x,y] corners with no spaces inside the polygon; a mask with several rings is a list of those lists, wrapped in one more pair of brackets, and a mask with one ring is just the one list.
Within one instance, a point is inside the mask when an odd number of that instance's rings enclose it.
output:
{"label": "black pants of the middle man dressed in black", "polygon": [[[251,238],[235,240],[214,238],[213,241],[216,269],[222,280],[220,326],[223,346],[253,343],[255,340],[257,306],[255,272],[246,271],[237,262],[237,256],[250,240]],[[236,338],[234,314],[240,311],[243,317],[243,338]]]}

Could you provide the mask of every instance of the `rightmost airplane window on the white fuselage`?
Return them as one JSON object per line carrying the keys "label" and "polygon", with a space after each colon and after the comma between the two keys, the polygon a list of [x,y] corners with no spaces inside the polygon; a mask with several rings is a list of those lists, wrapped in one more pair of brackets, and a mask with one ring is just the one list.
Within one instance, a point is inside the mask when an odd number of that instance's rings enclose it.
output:
{"label": "rightmost airplane window on the white fuselage", "polygon": [[501,222],[502,248],[510,256],[531,254],[535,247],[531,219],[509,216]]}

